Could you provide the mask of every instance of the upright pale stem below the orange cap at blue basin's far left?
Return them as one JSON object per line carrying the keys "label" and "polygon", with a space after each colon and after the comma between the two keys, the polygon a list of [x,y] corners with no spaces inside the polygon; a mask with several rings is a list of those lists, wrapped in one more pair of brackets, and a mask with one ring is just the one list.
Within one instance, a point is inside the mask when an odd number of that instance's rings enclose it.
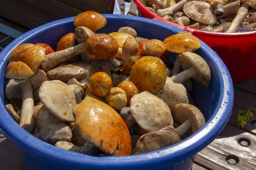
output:
{"label": "upright pale stem below the orange cap at blue basin's far left", "polygon": [[29,81],[20,84],[22,91],[22,108],[20,115],[20,126],[27,132],[31,133],[34,130],[34,100],[31,83]]}

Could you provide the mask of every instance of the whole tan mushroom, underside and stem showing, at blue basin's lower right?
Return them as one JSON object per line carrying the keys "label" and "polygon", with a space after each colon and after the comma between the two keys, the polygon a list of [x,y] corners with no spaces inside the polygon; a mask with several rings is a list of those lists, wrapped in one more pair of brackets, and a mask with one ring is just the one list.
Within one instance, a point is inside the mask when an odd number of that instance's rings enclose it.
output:
{"label": "whole tan mushroom, underside and stem showing, at blue basin's lower right", "polygon": [[180,125],[176,128],[180,136],[183,136],[190,128],[192,128],[192,134],[194,134],[205,124],[204,115],[194,105],[177,104],[172,115],[175,122]]}

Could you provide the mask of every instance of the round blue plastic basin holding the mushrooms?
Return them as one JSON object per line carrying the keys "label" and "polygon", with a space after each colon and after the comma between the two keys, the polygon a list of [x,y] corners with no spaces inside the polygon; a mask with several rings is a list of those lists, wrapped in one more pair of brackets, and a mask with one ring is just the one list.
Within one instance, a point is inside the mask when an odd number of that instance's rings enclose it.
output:
{"label": "round blue plastic basin holding the mushrooms", "polygon": [[[97,33],[116,32],[122,26],[130,26],[138,36],[163,41],[170,35],[184,32],[165,23],[141,17],[105,14],[107,24]],[[211,69],[211,85],[203,88],[194,82],[191,92],[195,105],[201,110],[206,124],[189,138],[171,147],[134,156],[88,156],[62,150],[37,139],[23,130],[5,109],[4,96],[7,79],[4,79],[6,65],[11,51],[23,43],[43,42],[55,46],[58,40],[69,32],[74,32],[74,17],[57,20],[39,26],[11,42],[0,53],[0,131],[20,149],[27,170],[70,170],[70,169],[125,169],[125,170],[190,170],[196,153],[210,144],[223,130],[233,108],[233,83],[230,74],[218,57],[204,42],[195,53],[203,57]],[[176,54],[169,53],[174,63]]]}

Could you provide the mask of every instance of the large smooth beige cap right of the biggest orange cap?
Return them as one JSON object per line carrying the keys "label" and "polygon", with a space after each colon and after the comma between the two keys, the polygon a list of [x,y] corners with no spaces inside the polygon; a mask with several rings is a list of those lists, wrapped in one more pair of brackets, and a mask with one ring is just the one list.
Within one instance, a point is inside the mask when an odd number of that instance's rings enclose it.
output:
{"label": "large smooth beige cap right of the biggest orange cap", "polygon": [[154,132],[173,125],[171,111],[159,97],[144,91],[131,98],[131,115],[146,132]]}

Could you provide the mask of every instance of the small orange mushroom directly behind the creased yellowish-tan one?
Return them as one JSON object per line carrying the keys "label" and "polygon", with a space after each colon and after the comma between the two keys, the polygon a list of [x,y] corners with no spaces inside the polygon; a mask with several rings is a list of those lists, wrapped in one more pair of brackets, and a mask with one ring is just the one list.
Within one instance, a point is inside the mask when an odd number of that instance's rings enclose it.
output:
{"label": "small orange mushroom directly behind the creased yellowish-tan one", "polygon": [[127,104],[126,105],[130,105],[130,101],[131,101],[131,98],[138,94],[138,89],[136,87],[136,85],[134,85],[132,82],[130,81],[123,81],[123,82],[120,82],[119,85],[117,85],[118,88],[121,88],[125,91],[126,93],[126,97],[127,97]]}

